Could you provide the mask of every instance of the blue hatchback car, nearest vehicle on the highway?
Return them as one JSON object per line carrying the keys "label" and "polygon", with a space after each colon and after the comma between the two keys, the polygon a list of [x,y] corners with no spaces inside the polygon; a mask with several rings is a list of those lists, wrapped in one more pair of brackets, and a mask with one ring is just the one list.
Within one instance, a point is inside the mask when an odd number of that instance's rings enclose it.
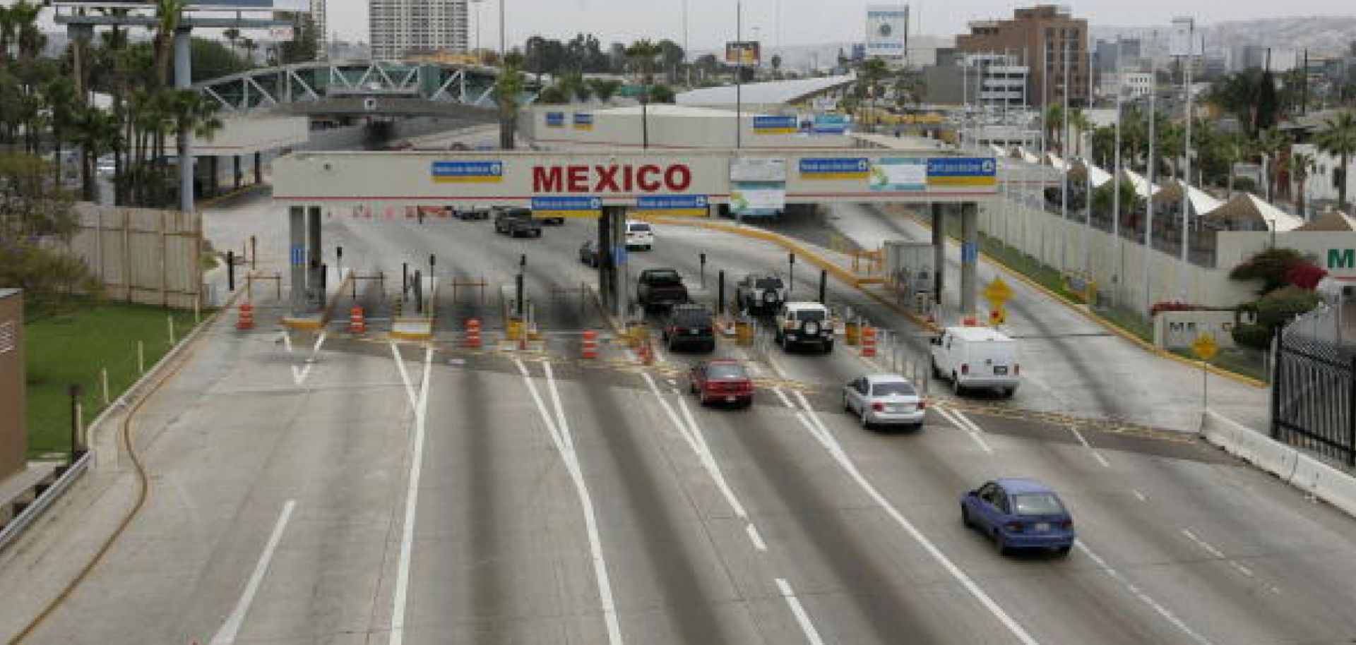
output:
{"label": "blue hatchback car, nearest vehicle on the highway", "polygon": [[1074,518],[1050,486],[1036,480],[1002,478],[960,497],[960,520],[994,539],[998,552],[1074,546]]}

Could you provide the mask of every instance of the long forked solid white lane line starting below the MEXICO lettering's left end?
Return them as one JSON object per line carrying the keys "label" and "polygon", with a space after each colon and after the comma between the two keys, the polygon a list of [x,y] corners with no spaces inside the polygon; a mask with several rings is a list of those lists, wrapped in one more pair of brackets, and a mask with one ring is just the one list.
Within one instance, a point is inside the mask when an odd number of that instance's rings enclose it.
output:
{"label": "long forked solid white lane line starting below the MEXICO lettering's left end", "polygon": [[551,438],[556,443],[556,450],[560,453],[560,461],[565,463],[565,470],[570,473],[570,481],[575,485],[579,505],[583,508],[584,531],[589,534],[589,552],[593,558],[594,580],[598,584],[598,599],[602,604],[603,622],[607,626],[607,642],[612,645],[621,645],[621,623],[617,619],[617,602],[612,595],[612,579],[607,577],[607,562],[602,556],[602,538],[598,533],[598,519],[594,512],[593,497],[589,495],[589,486],[584,482],[583,469],[579,466],[579,457],[575,453],[575,442],[570,435],[570,421],[565,419],[564,408],[560,404],[560,392],[556,389],[556,381],[551,370],[551,363],[542,362],[541,365],[546,379],[546,388],[551,392],[552,404],[555,407],[555,417],[551,411],[548,411],[545,401],[541,398],[541,392],[537,389],[537,382],[527,371],[527,366],[523,365],[519,358],[514,358],[514,363],[518,365],[518,371],[522,374],[523,383],[527,386],[527,393],[532,394],[532,401],[537,405],[537,413],[541,415],[542,423],[546,424],[546,431],[551,432]]}

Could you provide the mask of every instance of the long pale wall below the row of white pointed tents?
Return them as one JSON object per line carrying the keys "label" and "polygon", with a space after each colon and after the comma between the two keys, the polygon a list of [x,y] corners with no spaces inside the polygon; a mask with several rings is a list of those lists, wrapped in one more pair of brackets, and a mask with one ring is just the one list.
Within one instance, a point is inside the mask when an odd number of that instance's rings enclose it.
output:
{"label": "long pale wall below the row of white pointed tents", "polygon": [[[1028,255],[1039,257],[1051,267],[1060,266],[1060,247],[1067,268],[1083,268],[1083,240],[1088,240],[1088,257],[1092,279],[1097,290],[1123,308],[1144,309],[1144,263],[1151,268],[1150,302],[1185,299],[1195,305],[1234,306],[1256,298],[1257,285],[1229,278],[1230,268],[1237,263],[1224,263],[1224,268],[1204,268],[1189,264],[1185,289],[1181,285],[1181,259],[1161,251],[1144,252],[1142,244],[1131,240],[1119,243],[1111,233],[1083,226],[1082,213],[1070,213],[1069,221],[1058,214],[1028,207],[1010,199],[997,199],[990,206],[980,206],[980,230],[1003,240]],[[1269,240],[1269,233],[1233,233],[1252,236],[1261,244]],[[1086,237],[1085,237],[1086,236]],[[1223,236],[1223,234],[1222,234]],[[1223,253],[1222,253],[1223,255]],[[1123,262],[1117,260],[1124,257]],[[1123,279],[1117,279],[1117,264],[1124,267]]]}

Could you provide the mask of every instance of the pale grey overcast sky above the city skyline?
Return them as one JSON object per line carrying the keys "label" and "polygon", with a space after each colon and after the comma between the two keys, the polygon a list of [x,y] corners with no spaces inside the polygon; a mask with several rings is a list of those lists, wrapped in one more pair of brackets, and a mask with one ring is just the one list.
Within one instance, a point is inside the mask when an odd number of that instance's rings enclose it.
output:
{"label": "pale grey overcast sky above the city skyline", "polygon": [[[480,3],[480,45],[499,43],[499,1]],[[683,41],[683,0],[502,0],[506,3],[509,42],[522,42],[541,34],[568,38],[575,33],[597,34],[603,45],[636,38],[671,38]],[[687,34],[693,49],[715,49],[735,37],[734,0],[686,0]],[[754,27],[765,46],[816,45],[826,42],[861,41],[865,30],[865,7],[861,0],[743,0],[744,35],[753,38]],[[965,30],[975,19],[1012,16],[1014,7],[1036,3],[1009,3],[1001,0],[926,0],[913,5],[914,24],[928,35],[953,35]],[[1086,18],[1093,26],[1139,27],[1168,26],[1169,20],[1191,7],[1197,22],[1216,23],[1254,18],[1284,18],[1310,15],[1356,15],[1352,0],[1088,0],[1070,4],[1074,15]],[[781,7],[778,34],[777,7]],[[964,8],[957,8],[964,5]],[[476,9],[471,11],[472,41],[475,41]],[[367,39],[367,1],[330,0],[331,31],[344,39]],[[778,38],[780,35],[780,38]],[[1353,34],[1356,38],[1356,34]]]}

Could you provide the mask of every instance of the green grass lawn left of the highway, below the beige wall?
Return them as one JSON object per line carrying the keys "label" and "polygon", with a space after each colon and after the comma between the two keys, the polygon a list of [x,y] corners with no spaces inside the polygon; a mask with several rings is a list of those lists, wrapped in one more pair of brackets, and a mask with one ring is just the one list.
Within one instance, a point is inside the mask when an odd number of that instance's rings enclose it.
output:
{"label": "green grass lawn left of the highway, below the beige wall", "polygon": [[[207,313],[202,313],[206,318]],[[88,425],[103,411],[100,370],[108,370],[108,397],[140,378],[137,341],[145,347],[145,369],[170,351],[170,322],[175,340],[193,331],[193,312],[148,305],[102,304],[28,324],[28,458],[65,459],[71,449],[71,397],[79,383]]]}

